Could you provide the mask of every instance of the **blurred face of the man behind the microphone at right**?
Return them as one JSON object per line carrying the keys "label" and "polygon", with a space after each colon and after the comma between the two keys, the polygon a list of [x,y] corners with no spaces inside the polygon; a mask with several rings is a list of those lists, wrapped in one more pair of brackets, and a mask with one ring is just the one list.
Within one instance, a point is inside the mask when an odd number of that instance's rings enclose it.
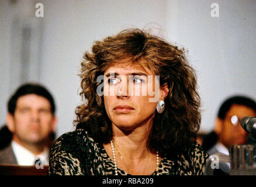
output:
{"label": "blurred face of the man behind the microphone at right", "polygon": [[220,141],[229,148],[234,144],[245,144],[248,133],[241,127],[241,119],[245,116],[255,116],[253,109],[244,105],[232,105],[227,112],[220,131]]}

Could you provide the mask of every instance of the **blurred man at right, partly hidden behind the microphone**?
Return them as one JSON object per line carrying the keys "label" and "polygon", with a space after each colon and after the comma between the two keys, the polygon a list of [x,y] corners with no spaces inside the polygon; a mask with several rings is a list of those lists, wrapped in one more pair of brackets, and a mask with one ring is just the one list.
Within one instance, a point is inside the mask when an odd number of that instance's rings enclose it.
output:
{"label": "blurred man at right, partly hidden behind the microphone", "polygon": [[222,103],[213,132],[203,137],[202,147],[210,154],[229,155],[234,144],[245,144],[248,133],[241,127],[245,116],[256,116],[256,102],[245,96],[232,96]]}

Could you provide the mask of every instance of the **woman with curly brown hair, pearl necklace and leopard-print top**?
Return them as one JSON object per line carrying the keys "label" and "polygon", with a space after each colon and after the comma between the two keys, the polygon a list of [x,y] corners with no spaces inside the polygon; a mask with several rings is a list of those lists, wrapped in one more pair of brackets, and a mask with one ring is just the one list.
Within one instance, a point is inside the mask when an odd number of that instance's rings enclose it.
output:
{"label": "woman with curly brown hair, pearl necklace and leopard-print top", "polygon": [[183,50],[127,29],[95,41],[81,65],[85,102],[51,150],[50,175],[203,174],[200,98]]}

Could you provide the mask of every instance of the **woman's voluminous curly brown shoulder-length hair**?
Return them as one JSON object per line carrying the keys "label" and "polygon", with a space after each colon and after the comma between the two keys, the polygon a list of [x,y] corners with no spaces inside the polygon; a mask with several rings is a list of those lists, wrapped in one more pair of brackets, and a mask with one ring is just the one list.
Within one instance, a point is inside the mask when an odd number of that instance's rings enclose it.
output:
{"label": "woman's voluminous curly brown shoulder-length hair", "polygon": [[103,96],[96,93],[101,82],[96,82],[96,78],[113,63],[122,63],[124,59],[160,75],[160,84],[167,84],[169,88],[164,112],[155,112],[148,148],[158,150],[162,156],[188,151],[201,120],[195,70],[189,65],[184,49],[140,29],[126,29],[95,41],[92,51],[84,53],[80,74],[80,95],[84,103],[75,110],[77,129],[86,129],[95,141],[101,143],[109,143],[112,139],[112,126]]}

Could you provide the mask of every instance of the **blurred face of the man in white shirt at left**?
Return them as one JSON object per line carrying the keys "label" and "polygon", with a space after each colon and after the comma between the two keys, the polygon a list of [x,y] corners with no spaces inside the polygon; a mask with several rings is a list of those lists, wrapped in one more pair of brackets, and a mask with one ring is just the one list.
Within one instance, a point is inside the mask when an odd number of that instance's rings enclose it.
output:
{"label": "blurred face of the man in white shirt at left", "polygon": [[41,144],[55,130],[56,119],[51,113],[50,102],[43,96],[20,96],[14,115],[9,115],[8,125],[13,140],[26,144]]}

